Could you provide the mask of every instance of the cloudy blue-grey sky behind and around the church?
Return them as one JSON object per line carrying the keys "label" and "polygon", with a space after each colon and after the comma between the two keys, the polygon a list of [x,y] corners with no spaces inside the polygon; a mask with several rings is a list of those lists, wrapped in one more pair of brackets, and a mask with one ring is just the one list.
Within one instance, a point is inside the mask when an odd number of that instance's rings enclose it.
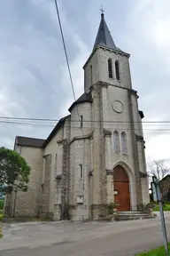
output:
{"label": "cloudy blue-grey sky behind and around the church", "polygon": [[[170,120],[169,0],[58,0],[76,97],[103,4],[115,43],[131,54],[144,121]],[[59,119],[72,102],[54,0],[1,0],[0,116]],[[0,123],[0,146],[12,148],[16,135],[46,138],[52,129],[34,125]],[[170,124],[144,124],[144,131],[147,160],[169,159]]]}

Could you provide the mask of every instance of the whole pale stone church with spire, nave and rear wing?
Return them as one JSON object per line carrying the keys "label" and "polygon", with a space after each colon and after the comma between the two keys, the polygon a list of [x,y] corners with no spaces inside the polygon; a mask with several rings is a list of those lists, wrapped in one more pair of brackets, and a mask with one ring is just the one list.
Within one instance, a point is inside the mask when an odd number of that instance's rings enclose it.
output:
{"label": "whole pale stone church with spire, nave and rear wing", "polygon": [[143,111],[132,89],[129,57],[101,14],[84,64],[84,93],[46,140],[17,136],[14,150],[31,166],[27,192],[6,197],[5,214],[51,220],[99,220],[107,206],[142,211],[149,203]]}

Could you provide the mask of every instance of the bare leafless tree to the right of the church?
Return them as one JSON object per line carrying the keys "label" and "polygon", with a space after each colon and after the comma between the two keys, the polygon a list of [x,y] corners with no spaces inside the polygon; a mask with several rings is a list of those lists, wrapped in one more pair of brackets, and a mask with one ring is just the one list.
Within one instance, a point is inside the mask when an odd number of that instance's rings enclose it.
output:
{"label": "bare leafless tree to the right of the church", "polygon": [[149,175],[156,176],[158,181],[166,177],[166,174],[170,172],[170,168],[167,166],[165,160],[154,160],[149,167]]}

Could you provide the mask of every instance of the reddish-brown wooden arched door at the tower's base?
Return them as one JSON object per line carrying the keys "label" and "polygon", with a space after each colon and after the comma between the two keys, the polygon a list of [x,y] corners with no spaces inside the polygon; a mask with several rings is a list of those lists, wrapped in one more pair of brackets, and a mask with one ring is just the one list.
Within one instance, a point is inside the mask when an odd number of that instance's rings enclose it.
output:
{"label": "reddish-brown wooden arched door at the tower's base", "polygon": [[127,172],[120,166],[116,166],[113,172],[114,201],[119,203],[119,212],[130,211],[130,192]]}

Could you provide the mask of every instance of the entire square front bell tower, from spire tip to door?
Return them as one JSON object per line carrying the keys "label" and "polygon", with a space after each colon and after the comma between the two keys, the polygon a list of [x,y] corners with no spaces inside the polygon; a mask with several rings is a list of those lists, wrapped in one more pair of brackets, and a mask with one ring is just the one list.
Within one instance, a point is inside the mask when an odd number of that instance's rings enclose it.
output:
{"label": "entire square front bell tower, from spire tip to door", "polygon": [[93,50],[83,67],[84,91],[93,100],[93,204],[98,209],[117,200],[120,211],[142,211],[149,203],[143,111],[132,89],[129,57],[114,43],[102,12]]}

